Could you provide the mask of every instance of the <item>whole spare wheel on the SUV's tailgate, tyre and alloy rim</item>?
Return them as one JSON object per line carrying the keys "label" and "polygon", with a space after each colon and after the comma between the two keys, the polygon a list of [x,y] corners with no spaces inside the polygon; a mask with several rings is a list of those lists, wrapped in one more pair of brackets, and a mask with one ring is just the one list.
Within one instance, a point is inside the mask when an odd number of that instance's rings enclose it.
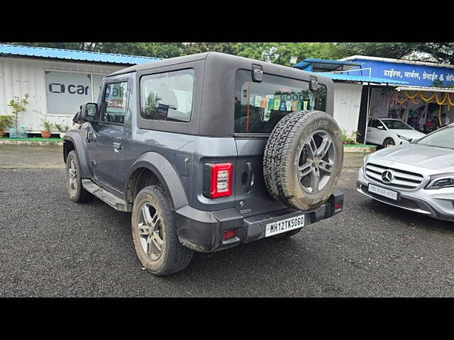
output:
{"label": "whole spare wheel on the SUV's tailgate, tyre and alloy rim", "polygon": [[263,176],[272,198],[310,210],[331,196],[342,166],[343,144],[336,120],[322,111],[296,111],[272,130]]}

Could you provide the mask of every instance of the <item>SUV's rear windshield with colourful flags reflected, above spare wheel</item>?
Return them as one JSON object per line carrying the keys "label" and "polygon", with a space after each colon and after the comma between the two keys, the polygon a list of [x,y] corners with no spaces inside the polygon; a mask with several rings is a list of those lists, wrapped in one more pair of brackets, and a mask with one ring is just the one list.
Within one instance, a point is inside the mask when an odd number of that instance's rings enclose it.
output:
{"label": "SUV's rear windshield with colourful flags reflected, above spare wheel", "polygon": [[263,74],[256,83],[252,72],[236,72],[235,132],[270,133],[279,120],[293,111],[326,110],[326,86],[309,90],[309,82]]}

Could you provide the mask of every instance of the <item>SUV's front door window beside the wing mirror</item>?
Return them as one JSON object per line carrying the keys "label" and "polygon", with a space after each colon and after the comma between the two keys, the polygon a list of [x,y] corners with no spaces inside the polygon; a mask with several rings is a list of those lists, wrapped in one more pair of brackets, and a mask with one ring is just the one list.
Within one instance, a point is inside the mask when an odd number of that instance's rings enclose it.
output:
{"label": "SUV's front door window beside the wing mirror", "polygon": [[128,104],[128,81],[106,85],[104,94],[103,123],[125,123],[126,105]]}

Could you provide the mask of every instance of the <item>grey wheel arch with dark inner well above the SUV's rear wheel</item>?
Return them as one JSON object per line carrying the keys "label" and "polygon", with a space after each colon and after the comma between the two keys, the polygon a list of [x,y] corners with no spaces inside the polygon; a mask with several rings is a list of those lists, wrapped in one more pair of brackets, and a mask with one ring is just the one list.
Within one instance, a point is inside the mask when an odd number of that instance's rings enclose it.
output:
{"label": "grey wheel arch with dark inner well above the SUV's rear wheel", "polygon": [[[144,179],[144,176],[148,179]],[[161,185],[167,197],[170,198],[172,209],[176,210],[188,204],[186,192],[177,171],[165,157],[157,152],[141,154],[131,166],[125,184],[126,201],[128,203],[133,203],[140,184],[143,186],[144,183]]]}

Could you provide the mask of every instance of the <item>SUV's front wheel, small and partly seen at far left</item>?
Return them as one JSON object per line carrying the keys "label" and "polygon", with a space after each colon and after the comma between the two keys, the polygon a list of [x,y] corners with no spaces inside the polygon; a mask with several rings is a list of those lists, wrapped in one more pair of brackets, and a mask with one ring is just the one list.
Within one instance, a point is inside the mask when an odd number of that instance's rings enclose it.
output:
{"label": "SUV's front wheel, small and partly seen at far left", "polygon": [[91,193],[86,191],[82,186],[82,177],[80,172],[80,162],[77,152],[72,150],[66,159],[66,183],[70,200],[81,203],[93,199]]}

